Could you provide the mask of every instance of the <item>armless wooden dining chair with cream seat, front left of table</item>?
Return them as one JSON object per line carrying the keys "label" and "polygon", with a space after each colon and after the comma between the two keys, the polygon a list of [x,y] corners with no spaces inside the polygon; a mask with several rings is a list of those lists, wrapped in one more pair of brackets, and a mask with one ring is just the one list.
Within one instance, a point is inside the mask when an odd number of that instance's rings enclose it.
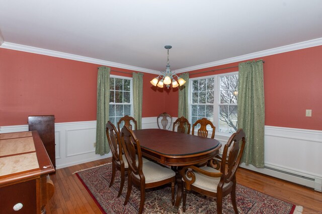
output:
{"label": "armless wooden dining chair with cream seat, front left of table", "polygon": [[[174,205],[176,173],[167,167],[154,163],[153,161],[143,163],[140,141],[136,138],[133,131],[124,126],[121,133],[124,153],[129,164],[128,187],[124,205],[127,204],[130,198],[132,183],[140,187],[141,198],[139,214],[143,211],[146,188],[153,188],[171,183],[172,205]],[[138,161],[134,161],[135,155],[138,156]]]}

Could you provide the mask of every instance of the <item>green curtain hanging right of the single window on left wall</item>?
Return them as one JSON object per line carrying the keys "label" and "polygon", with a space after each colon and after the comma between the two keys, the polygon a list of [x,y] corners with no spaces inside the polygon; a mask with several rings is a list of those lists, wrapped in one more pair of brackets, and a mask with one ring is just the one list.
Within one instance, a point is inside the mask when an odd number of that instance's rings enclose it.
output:
{"label": "green curtain hanging right of the single window on left wall", "polygon": [[143,74],[133,72],[133,110],[137,128],[142,129]]}

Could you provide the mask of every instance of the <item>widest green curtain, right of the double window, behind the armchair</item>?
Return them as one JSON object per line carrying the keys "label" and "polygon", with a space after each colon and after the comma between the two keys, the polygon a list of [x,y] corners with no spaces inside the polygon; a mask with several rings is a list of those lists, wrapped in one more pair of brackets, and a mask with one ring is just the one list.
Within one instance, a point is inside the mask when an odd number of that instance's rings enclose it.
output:
{"label": "widest green curtain, right of the double window, behind the armchair", "polygon": [[242,162],[264,168],[264,74],[263,60],[239,63],[238,128],[246,134]]}

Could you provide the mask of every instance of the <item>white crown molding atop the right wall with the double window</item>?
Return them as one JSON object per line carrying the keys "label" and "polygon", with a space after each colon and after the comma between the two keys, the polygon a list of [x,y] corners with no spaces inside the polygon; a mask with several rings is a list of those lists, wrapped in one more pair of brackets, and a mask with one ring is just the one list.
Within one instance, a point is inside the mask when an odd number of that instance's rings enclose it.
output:
{"label": "white crown molding atop the right wall with the double window", "polygon": [[305,42],[295,43],[295,44],[286,45],[286,46],[282,46],[282,47],[278,47],[278,48],[272,48],[272,49],[268,49],[265,51],[259,51],[259,52],[255,52],[255,53],[251,53],[251,54],[238,56],[238,57],[232,57],[232,58],[219,60],[219,61],[215,61],[215,62],[211,62],[211,63],[205,63],[205,64],[201,64],[201,65],[178,69],[178,70],[175,70],[175,72],[177,74],[179,74],[179,73],[183,73],[183,72],[195,71],[198,69],[210,68],[210,67],[214,67],[214,66],[225,65],[225,64],[229,64],[229,63],[235,63],[235,62],[240,62],[240,61],[244,61],[244,60],[250,60],[250,59],[254,59],[254,58],[258,58],[258,57],[265,57],[265,56],[280,54],[280,53],[289,52],[289,51],[295,51],[295,50],[304,49],[304,48],[311,48],[311,47],[320,46],[320,45],[322,45],[322,38],[308,40]]}

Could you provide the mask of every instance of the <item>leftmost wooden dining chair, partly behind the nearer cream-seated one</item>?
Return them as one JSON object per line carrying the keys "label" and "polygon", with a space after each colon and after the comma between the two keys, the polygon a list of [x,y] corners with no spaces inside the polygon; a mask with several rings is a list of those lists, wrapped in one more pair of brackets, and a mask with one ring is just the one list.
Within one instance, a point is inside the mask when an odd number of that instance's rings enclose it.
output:
{"label": "leftmost wooden dining chair, partly behind the nearer cream-seated one", "polygon": [[[112,177],[110,181],[109,187],[113,185],[115,178],[115,171],[119,170],[121,172],[121,184],[117,197],[119,197],[122,193],[124,180],[125,180],[125,172],[128,171],[128,163],[125,155],[123,154],[123,147],[121,143],[121,137],[119,132],[116,130],[116,127],[113,125],[111,121],[106,123],[106,136],[110,145],[111,153],[112,153]],[[138,159],[136,157],[136,159]],[[149,160],[143,158],[143,163],[148,162]]]}

